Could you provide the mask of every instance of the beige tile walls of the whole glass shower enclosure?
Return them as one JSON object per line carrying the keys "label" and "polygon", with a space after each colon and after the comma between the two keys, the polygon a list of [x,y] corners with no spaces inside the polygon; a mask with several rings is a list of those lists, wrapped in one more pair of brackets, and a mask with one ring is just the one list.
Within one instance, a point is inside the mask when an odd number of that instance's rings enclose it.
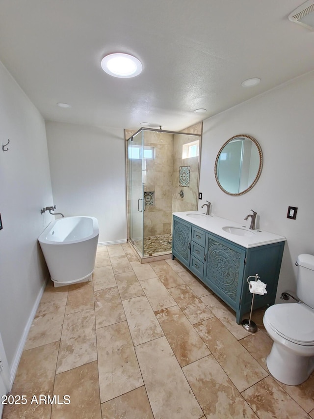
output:
{"label": "beige tile walls of the whole glass shower enclosure", "polygon": [[[182,132],[202,135],[202,122],[185,128]],[[135,131],[126,129],[125,139],[129,139],[134,133]],[[171,233],[173,212],[197,208],[198,158],[182,159],[182,145],[194,140],[196,140],[194,136],[144,131],[144,145],[155,147],[156,151],[155,159],[145,160],[144,163],[146,165],[143,171],[144,194],[154,195],[154,204],[146,205],[144,213],[144,238]],[[127,147],[126,142],[126,156]],[[179,187],[179,170],[183,166],[190,167],[189,187],[184,188]],[[183,199],[179,196],[181,189],[185,194]],[[129,222],[130,207],[128,196]]]}

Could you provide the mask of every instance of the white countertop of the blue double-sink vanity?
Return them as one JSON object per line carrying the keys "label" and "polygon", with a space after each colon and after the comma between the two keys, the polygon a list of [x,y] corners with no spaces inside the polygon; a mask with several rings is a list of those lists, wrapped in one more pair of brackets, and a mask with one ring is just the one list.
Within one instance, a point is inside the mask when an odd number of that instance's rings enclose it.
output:
{"label": "white countertop of the blue double-sink vanity", "polygon": [[[206,215],[202,211],[174,212],[173,215],[245,248],[286,241],[286,237],[260,229],[250,230],[244,224],[236,223],[235,221],[227,220],[216,215]],[[223,227],[235,228],[234,231],[237,234],[225,231]],[[228,228],[226,229],[228,230]]]}

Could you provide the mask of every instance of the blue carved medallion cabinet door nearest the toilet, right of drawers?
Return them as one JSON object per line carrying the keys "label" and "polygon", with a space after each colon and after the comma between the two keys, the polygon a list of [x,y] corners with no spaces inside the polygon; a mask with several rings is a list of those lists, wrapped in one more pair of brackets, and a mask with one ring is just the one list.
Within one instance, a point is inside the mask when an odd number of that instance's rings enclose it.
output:
{"label": "blue carved medallion cabinet door nearest the toilet, right of drawers", "polygon": [[206,235],[205,282],[235,310],[240,305],[246,251]]}

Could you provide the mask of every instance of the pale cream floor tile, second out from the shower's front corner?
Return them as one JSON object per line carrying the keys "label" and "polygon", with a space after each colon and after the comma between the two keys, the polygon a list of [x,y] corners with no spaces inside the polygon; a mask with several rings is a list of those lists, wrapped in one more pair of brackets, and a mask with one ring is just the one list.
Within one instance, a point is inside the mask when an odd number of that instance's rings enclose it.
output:
{"label": "pale cream floor tile, second out from the shower's front corner", "polygon": [[145,279],[141,285],[154,311],[177,305],[159,278]]}

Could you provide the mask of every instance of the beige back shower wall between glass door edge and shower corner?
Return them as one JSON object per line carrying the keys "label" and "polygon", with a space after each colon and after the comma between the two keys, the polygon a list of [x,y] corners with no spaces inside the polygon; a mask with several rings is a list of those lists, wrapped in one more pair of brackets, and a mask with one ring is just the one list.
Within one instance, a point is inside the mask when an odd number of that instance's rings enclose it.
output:
{"label": "beige back shower wall between glass door edge and shower corner", "polygon": [[144,237],[171,233],[173,135],[144,131],[144,146],[155,147],[155,159],[144,160],[144,194],[154,193],[154,205],[146,205]]}

